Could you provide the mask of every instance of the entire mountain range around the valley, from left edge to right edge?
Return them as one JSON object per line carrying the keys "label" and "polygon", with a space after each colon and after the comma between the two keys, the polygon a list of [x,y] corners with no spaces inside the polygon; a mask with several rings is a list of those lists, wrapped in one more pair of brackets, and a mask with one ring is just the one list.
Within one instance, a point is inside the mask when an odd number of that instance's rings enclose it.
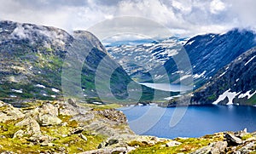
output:
{"label": "entire mountain range around the valley, from left edge to right edge", "polygon": [[[79,46],[90,48],[81,49]],[[193,71],[195,92],[189,94],[192,96],[191,105],[256,105],[256,41],[253,31],[234,29],[189,40],[170,37],[150,43],[148,40],[122,45],[113,43],[106,47],[107,51],[88,31],[74,31],[70,35],[54,27],[12,21],[0,21],[0,100],[61,99],[66,93],[62,89],[63,82],[75,85],[71,90],[73,94],[82,92],[88,102],[102,101],[98,99],[96,88],[106,89],[102,93],[104,97],[113,95],[119,100],[137,94],[138,86],[142,86],[137,82],[152,83],[154,78],[161,83],[167,74],[170,83],[180,83],[189,77],[186,76],[189,71],[179,71],[173,60],[180,47],[187,51]],[[76,71],[69,71],[65,77],[63,66],[76,66],[72,61],[65,61],[69,54],[73,54],[72,60],[79,61],[82,66],[76,67],[80,68],[79,75]],[[100,71],[101,77],[97,77],[99,66],[108,68]],[[163,66],[166,72],[160,71]],[[151,77],[152,72],[154,77]],[[73,83],[73,80],[79,83]],[[132,94],[128,94],[128,85]],[[152,100],[154,89],[142,88],[143,99],[139,101]],[[164,100],[164,95],[170,95],[170,92],[159,94]],[[177,97],[168,103],[173,106],[176,102]]]}

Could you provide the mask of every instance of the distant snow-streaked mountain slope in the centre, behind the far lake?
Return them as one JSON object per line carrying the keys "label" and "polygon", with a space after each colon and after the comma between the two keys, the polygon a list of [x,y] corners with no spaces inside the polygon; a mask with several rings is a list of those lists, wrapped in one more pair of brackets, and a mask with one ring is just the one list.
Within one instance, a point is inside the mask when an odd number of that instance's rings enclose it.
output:
{"label": "distant snow-streaked mountain slope in the centre, behind the far lake", "polygon": [[[166,74],[158,72],[167,60],[177,54],[177,46],[185,42],[185,38],[170,37],[165,40],[137,42],[107,46],[108,53],[124,67],[131,78],[138,82],[160,80]],[[157,73],[156,73],[157,72]]]}

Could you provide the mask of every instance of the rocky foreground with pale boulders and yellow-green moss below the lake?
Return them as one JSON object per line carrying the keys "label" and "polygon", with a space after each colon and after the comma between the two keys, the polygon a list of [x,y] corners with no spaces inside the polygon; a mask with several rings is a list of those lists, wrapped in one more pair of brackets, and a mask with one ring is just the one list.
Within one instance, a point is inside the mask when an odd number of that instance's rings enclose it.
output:
{"label": "rocky foreground with pale boulders and yellow-green moss below the lake", "polygon": [[113,106],[75,100],[0,101],[1,153],[256,153],[256,133],[161,139],[134,134]]}

